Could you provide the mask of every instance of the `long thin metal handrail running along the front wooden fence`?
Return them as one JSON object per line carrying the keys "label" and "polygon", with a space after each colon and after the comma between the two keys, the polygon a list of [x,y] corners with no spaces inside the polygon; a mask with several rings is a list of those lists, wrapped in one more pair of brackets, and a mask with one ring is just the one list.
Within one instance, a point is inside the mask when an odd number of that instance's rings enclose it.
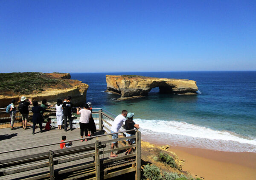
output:
{"label": "long thin metal handrail running along the front wooden fence", "polygon": [[[131,130],[127,130],[127,131],[114,132],[114,133],[109,133],[109,134],[104,134],[104,135],[90,136],[90,137],[87,137],[87,138],[74,139],[74,140],[70,140],[70,141],[62,141],[62,142],[59,142],[59,143],[44,144],[44,145],[40,145],[40,146],[32,146],[32,147],[26,147],[26,148],[22,148],[22,149],[14,149],[14,150],[10,150],[10,151],[0,152],[0,154],[7,153],[7,152],[22,151],[22,150],[26,150],[26,149],[35,149],[35,148],[38,148],[38,147],[51,146],[51,145],[56,145],[56,144],[61,144],[61,143],[69,143],[69,142],[72,142],[72,141],[81,141],[81,140],[90,139],[90,138],[102,137],[102,136],[106,136],[106,135],[113,135],[113,134],[119,134],[119,133],[131,132],[131,131],[137,131],[137,130],[138,129],[131,129]],[[127,137],[127,139],[129,139],[129,137]]]}

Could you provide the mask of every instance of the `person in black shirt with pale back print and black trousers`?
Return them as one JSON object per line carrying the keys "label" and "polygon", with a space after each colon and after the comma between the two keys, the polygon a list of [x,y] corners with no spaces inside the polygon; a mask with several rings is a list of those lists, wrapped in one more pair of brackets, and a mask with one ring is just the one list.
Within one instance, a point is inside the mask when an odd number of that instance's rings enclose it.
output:
{"label": "person in black shirt with pale back print and black trousers", "polygon": [[64,124],[65,124],[64,130],[65,131],[67,131],[67,127],[68,127],[67,126],[67,118],[69,121],[70,130],[73,131],[72,111],[71,111],[73,108],[73,103],[70,102],[70,100],[71,100],[71,96],[68,96],[67,101],[62,104],[63,114],[64,114]]}

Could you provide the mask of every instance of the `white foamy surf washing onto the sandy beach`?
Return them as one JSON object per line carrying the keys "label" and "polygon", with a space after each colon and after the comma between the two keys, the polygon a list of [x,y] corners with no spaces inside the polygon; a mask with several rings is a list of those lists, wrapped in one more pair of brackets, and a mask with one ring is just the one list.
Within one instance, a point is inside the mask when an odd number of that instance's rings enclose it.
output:
{"label": "white foamy surf washing onto the sandy beach", "polygon": [[230,152],[256,152],[256,139],[179,121],[134,119],[143,136],[173,146],[189,146]]}

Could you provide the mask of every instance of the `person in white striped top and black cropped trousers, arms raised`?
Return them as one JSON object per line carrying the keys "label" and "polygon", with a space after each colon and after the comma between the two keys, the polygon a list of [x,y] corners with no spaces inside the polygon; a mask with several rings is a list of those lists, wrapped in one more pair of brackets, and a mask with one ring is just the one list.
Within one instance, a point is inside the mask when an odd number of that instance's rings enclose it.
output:
{"label": "person in white striped top and black cropped trousers, arms raised", "polygon": [[[90,121],[90,118],[92,117],[92,112],[89,110],[88,104],[85,104],[83,109],[77,108],[76,114],[77,115],[81,114],[79,119],[81,138],[83,138],[84,136],[87,138],[89,121]],[[83,142],[84,140],[81,140],[81,141]],[[86,139],[85,141],[88,141],[88,140]]]}

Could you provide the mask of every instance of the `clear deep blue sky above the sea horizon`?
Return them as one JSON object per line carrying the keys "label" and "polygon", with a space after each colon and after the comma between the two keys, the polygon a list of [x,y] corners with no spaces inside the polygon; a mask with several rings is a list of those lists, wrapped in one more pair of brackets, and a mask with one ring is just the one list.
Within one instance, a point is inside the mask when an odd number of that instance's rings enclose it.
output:
{"label": "clear deep blue sky above the sea horizon", "polygon": [[0,0],[0,72],[256,70],[254,0]]}

